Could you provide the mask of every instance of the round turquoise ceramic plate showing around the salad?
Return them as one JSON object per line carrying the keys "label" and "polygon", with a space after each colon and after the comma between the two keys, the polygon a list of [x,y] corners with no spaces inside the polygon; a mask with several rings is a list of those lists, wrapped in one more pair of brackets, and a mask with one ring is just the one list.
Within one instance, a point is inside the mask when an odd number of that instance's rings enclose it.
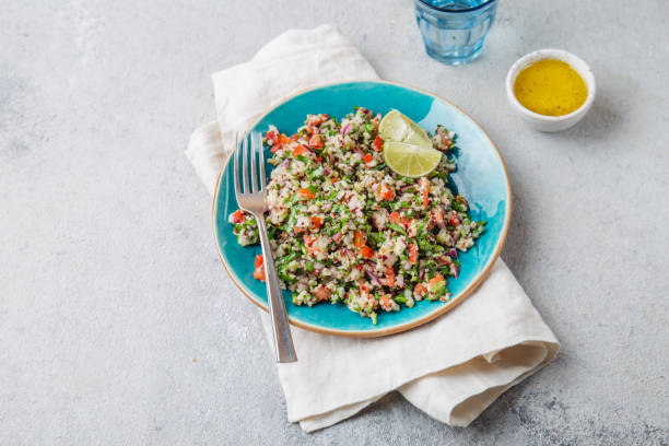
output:
{"label": "round turquoise ceramic plate showing around the salad", "polygon": [[[397,108],[421,127],[433,131],[442,124],[458,134],[458,169],[453,183],[470,203],[474,220],[488,220],[485,232],[476,245],[460,255],[459,278],[448,280],[453,293],[449,302],[418,302],[413,308],[382,313],[378,324],[363,318],[341,304],[319,304],[313,307],[293,305],[291,292],[283,297],[293,325],[307,330],[350,337],[390,334],[425,324],[462,302],[492,268],[502,250],[512,210],[512,195],[506,168],[500,152],[483,129],[449,102],[433,94],[384,81],[344,82],[298,93],[277,105],[251,127],[265,132],[270,124],[292,134],[302,126],[307,114],[327,113],[341,118],[354,105],[386,114]],[[266,148],[269,157],[269,148]],[[232,156],[230,157],[232,160]],[[268,167],[269,166],[268,164]],[[235,284],[255,304],[267,310],[265,283],[253,278],[254,259],[260,246],[242,247],[233,234],[227,215],[237,209],[233,186],[232,163],[221,169],[213,203],[213,231],[221,260]]]}

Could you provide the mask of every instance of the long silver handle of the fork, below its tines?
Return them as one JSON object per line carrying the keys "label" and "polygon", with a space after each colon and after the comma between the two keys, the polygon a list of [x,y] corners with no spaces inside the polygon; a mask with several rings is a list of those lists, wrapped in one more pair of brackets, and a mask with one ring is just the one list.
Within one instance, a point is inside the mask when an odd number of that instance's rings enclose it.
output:
{"label": "long silver handle of the fork, below its tines", "polygon": [[295,362],[297,361],[297,355],[295,354],[293,338],[289,328],[285,303],[283,302],[281,287],[277,279],[277,269],[274,268],[274,259],[272,258],[272,250],[269,244],[265,215],[256,215],[256,221],[258,222],[258,234],[260,236],[260,245],[262,246],[267,303],[270,318],[272,319],[272,334],[274,339],[274,356],[279,363]]}

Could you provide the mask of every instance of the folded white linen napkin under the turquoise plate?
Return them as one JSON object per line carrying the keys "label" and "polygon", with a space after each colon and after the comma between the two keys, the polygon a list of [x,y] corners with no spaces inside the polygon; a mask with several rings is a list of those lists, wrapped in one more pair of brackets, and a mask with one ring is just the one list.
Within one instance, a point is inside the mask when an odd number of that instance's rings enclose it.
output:
{"label": "folded white linen napkin under the turquoise plate", "polygon": [[[198,128],[186,151],[209,192],[235,132],[297,91],[351,79],[377,75],[332,25],[287,31],[249,62],[214,73],[218,121]],[[271,343],[269,317],[259,312]],[[305,431],[344,420],[392,390],[439,421],[467,426],[560,349],[502,259],[457,308],[407,332],[351,339],[291,329],[298,361],[278,364],[279,380],[289,420]]]}

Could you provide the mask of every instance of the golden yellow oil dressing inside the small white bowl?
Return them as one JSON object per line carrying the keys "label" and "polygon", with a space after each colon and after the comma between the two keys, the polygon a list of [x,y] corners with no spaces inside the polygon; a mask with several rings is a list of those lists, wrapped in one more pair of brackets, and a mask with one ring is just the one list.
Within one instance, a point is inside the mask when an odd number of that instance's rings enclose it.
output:
{"label": "golden yellow oil dressing inside the small white bowl", "polygon": [[514,94],[524,107],[545,116],[562,116],[578,109],[588,87],[568,63],[542,59],[524,68],[514,82]]}

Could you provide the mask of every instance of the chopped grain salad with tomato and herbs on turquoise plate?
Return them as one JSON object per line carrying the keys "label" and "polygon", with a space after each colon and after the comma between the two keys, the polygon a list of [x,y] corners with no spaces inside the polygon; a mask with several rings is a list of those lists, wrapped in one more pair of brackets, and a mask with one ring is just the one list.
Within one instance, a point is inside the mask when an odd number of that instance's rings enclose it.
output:
{"label": "chopped grain salad with tomato and herbs on turquoise plate", "polygon": [[[267,226],[280,284],[295,305],[340,303],[376,324],[382,312],[416,301],[448,302],[458,251],[485,228],[448,187],[457,136],[437,126],[430,139],[443,153],[438,166],[409,178],[384,162],[380,120],[354,107],[341,121],[307,115],[292,137],[273,126],[265,134],[274,166]],[[242,246],[258,243],[253,215],[237,210],[228,221]],[[254,267],[254,278],[263,281],[261,255]]]}

